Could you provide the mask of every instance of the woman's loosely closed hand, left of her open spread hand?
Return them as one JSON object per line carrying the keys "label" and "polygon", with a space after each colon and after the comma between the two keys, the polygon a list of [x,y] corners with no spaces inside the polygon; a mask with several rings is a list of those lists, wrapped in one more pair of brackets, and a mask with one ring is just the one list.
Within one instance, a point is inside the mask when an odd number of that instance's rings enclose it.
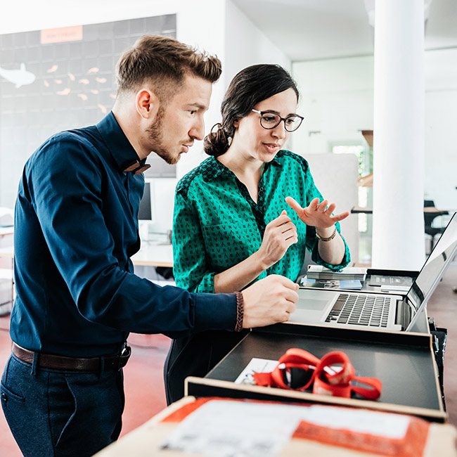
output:
{"label": "woman's loosely closed hand, left of her open spread hand", "polygon": [[281,260],[288,248],[297,241],[297,227],[283,210],[265,227],[262,245],[257,251],[263,269],[266,270]]}

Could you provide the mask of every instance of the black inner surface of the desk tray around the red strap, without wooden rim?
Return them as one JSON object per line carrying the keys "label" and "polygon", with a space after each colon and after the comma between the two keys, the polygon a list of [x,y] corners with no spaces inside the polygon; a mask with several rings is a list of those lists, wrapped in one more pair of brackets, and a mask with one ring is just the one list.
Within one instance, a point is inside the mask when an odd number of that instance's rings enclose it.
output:
{"label": "black inner surface of the desk tray around the red strap, without wooden rim", "polygon": [[253,357],[278,360],[292,347],[304,349],[318,358],[328,352],[342,351],[349,357],[356,375],[381,380],[382,394],[378,402],[441,409],[427,335],[415,337],[409,334],[405,337],[399,333],[396,337],[362,330],[352,332],[353,337],[349,337],[347,330],[342,330],[343,333],[333,331],[334,337],[324,337],[316,328],[310,329],[308,335],[306,332],[253,331],[205,378],[233,382]]}

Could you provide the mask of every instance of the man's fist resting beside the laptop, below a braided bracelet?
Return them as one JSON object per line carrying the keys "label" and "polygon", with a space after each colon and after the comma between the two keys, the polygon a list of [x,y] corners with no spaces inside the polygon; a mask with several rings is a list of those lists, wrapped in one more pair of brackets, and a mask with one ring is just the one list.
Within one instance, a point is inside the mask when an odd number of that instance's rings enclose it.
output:
{"label": "man's fist resting beside the laptop, below a braided bracelet", "polygon": [[298,284],[270,275],[243,290],[243,328],[269,326],[289,320],[298,300]]}

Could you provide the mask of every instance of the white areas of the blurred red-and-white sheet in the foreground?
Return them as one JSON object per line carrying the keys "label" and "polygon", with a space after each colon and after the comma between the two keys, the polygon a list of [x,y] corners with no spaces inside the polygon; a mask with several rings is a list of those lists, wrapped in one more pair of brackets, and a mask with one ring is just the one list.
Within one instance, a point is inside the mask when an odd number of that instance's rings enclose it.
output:
{"label": "white areas of the blurred red-and-white sheet in the foreground", "polygon": [[325,427],[401,439],[410,419],[377,411],[212,400],[187,416],[163,448],[214,457],[273,457],[301,420]]}

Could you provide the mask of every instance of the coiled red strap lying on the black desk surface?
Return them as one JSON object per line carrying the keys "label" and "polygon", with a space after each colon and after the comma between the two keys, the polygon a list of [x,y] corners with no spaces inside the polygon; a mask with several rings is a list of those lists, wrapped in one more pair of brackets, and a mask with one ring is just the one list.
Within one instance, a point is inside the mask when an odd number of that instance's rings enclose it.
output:
{"label": "coiled red strap lying on the black desk surface", "polygon": [[[341,366],[336,371],[335,365]],[[303,349],[292,348],[281,359],[271,373],[254,373],[257,385],[293,389],[287,384],[291,369],[299,368],[307,380],[304,385],[295,390],[307,390],[313,384],[313,393],[333,397],[351,397],[351,392],[367,399],[375,400],[381,395],[382,382],[377,378],[362,378],[355,375],[354,367],[344,352],[329,352],[322,359]],[[308,376],[307,376],[308,375]],[[369,387],[351,385],[352,381],[360,382]]]}

